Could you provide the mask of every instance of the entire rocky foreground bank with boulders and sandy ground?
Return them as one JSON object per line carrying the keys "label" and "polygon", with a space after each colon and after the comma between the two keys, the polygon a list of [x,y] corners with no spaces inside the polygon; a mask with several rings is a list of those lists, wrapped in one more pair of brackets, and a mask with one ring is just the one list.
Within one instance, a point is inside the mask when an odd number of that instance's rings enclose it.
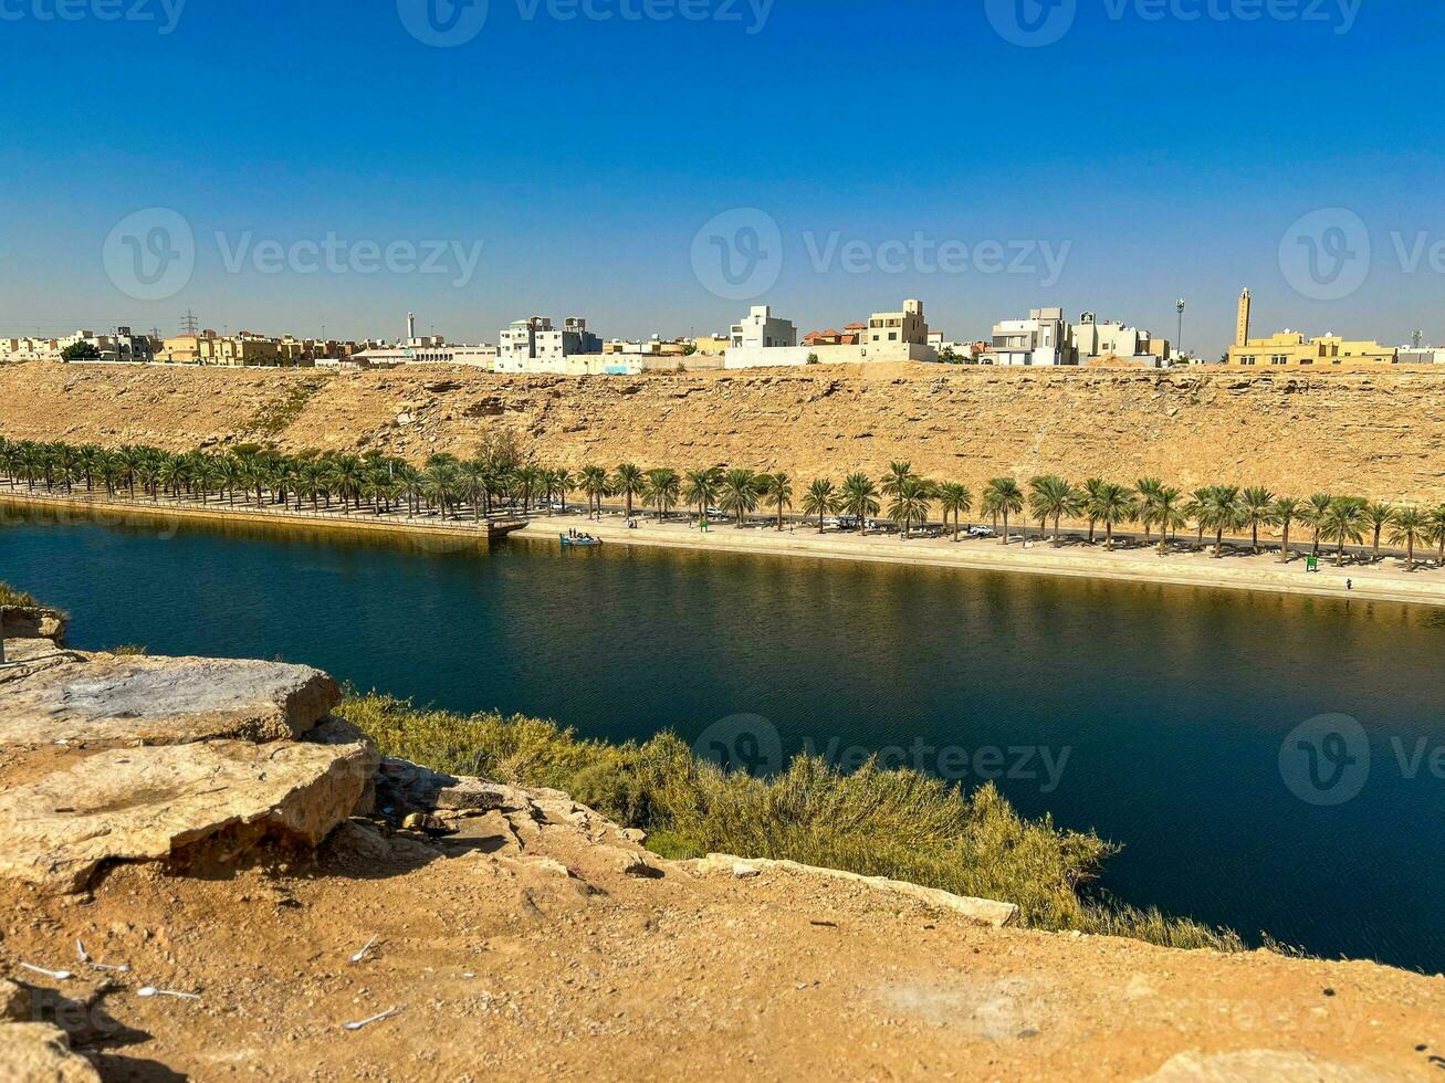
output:
{"label": "entire rocky foreground bank with boulders and sandy ground", "polygon": [[666,861],[279,663],[10,640],[0,1077],[1435,1079],[1445,979]]}

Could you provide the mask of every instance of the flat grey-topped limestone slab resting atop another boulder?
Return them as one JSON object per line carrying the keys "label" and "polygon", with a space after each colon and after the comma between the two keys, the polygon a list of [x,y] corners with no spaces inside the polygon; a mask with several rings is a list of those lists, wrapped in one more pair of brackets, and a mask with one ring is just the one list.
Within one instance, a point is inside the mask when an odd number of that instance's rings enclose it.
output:
{"label": "flat grey-topped limestone slab resting atop another boulder", "polygon": [[[61,651],[13,640],[0,671],[0,745],[296,738],[341,700],[309,666]],[[33,644],[45,644],[36,647]]]}

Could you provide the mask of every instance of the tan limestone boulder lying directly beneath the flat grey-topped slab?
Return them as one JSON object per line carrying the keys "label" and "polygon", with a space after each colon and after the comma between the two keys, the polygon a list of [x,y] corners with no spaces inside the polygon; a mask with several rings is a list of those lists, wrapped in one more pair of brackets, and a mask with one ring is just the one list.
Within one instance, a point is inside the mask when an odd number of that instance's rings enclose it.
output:
{"label": "tan limestone boulder lying directly beneath the flat grey-topped slab", "polygon": [[107,862],[308,846],[342,823],[377,767],[367,744],[210,741],[97,752],[0,791],[0,879],[79,891]]}

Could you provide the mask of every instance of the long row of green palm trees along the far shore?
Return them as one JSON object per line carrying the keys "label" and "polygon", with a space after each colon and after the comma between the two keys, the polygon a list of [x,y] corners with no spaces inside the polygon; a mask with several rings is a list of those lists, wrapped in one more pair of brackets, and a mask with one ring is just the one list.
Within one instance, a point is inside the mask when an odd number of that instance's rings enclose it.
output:
{"label": "long row of green palm trees along the far shore", "polygon": [[957,542],[965,518],[975,511],[991,520],[1001,544],[1013,539],[1012,524],[1023,526],[1027,544],[1029,524],[1045,534],[1052,526],[1052,543],[1062,544],[1065,520],[1088,524],[1088,543],[1098,533],[1104,546],[1114,547],[1120,527],[1139,524],[1144,542],[1157,533],[1159,552],[1169,552],[1178,531],[1194,527],[1202,547],[1212,536],[1214,554],[1224,554],[1224,539],[1247,536],[1253,552],[1263,552],[1260,534],[1279,530],[1280,560],[1290,557],[1290,536],[1296,529],[1312,531],[1312,553],[1321,546],[1335,546],[1337,563],[1344,563],[1345,549],[1373,544],[1373,559],[1380,559],[1381,543],[1405,546],[1406,566],[1415,569],[1415,552],[1436,544],[1436,562],[1445,565],[1445,504],[1418,508],[1373,503],[1357,497],[1315,494],[1308,500],[1282,497],[1263,487],[1211,485],[1185,492],[1157,478],[1143,478],[1133,487],[1090,478],[1075,485],[1056,477],[1035,477],[1027,482],[993,478],[975,501],[974,492],[958,482],[936,482],[920,477],[907,462],[894,462],[881,479],[853,472],[835,482],[812,481],[802,492],[788,474],[754,472],[744,468],[670,468],[643,469],[621,464],[613,471],[588,465],[578,472],[549,469],[525,461],[510,446],[493,448],[475,458],[434,455],[423,466],[380,452],[348,455],[303,452],[283,455],[260,446],[240,446],[230,452],[171,453],[158,448],[126,446],[105,449],[94,445],[72,446],[53,442],[6,440],[0,438],[0,477],[10,487],[43,487],[51,492],[87,492],[104,488],[110,495],[131,500],[191,498],[208,503],[237,501],[273,505],[295,504],[298,510],[335,508],[345,514],[370,507],[374,514],[392,514],[403,507],[409,517],[423,508],[442,517],[470,514],[480,520],[499,510],[519,508],[529,514],[535,507],[566,511],[571,494],[585,497],[590,514],[601,514],[605,500],[620,500],[629,518],[640,504],[666,518],[679,507],[695,508],[699,517],[721,511],[740,527],[759,508],[776,516],[785,529],[795,507],[818,520],[819,533],[829,517],[847,516],[853,529],[868,530],[873,517],[886,513],[905,539],[929,521],[936,508],[944,527],[952,524]]}

